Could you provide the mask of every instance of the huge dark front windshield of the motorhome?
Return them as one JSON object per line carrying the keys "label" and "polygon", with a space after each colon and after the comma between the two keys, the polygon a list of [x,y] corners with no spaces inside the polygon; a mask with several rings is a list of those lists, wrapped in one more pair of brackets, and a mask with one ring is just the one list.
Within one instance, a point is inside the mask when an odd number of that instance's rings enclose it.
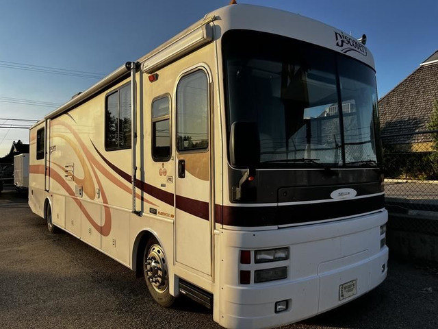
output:
{"label": "huge dark front windshield of the motorhome", "polygon": [[222,42],[228,132],[235,121],[257,123],[260,167],[376,165],[369,66],[262,32],[235,30]]}

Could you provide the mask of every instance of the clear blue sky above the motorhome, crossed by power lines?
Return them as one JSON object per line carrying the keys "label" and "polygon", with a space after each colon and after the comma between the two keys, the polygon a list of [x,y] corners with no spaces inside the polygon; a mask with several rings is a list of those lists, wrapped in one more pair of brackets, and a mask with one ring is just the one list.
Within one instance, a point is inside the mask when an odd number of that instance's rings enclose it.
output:
{"label": "clear blue sky above the motorhome, crossed by power lines", "polygon": [[[366,34],[376,62],[379,98],[438,50],[437,0],[237,2],[294,12],[357,38]],[[29,121],[6,119],[42,119],[125,62],[137,60],[228,3],[0,0],[0,157],[8,154],[12,141],[29,142],[29,130],[8,128]]]}

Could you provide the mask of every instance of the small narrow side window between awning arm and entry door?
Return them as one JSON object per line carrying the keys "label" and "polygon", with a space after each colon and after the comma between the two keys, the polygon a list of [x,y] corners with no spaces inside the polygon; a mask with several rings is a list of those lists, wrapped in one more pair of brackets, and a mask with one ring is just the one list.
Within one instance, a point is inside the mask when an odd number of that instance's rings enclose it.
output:
{"label": "small narrow side window between awning arm and entry door", "polygon": [[170,160],[170,99],[167,96],[152,103],[152,158]]}

